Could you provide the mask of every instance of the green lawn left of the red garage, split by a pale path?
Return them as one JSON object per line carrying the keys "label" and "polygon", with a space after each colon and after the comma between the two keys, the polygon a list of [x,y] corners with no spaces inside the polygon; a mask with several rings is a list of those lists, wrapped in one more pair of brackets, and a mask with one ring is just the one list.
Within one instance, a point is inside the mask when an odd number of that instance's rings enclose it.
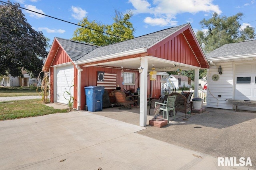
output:
{"label": "green lawn left of the red garage, split by a pale path", "polygon": [[[35,88],[0,88],[0,97],[35,95],[39,95]],[[66,112],[68,109],[46,106],[41,99],[0,102],[0,121]]]}

